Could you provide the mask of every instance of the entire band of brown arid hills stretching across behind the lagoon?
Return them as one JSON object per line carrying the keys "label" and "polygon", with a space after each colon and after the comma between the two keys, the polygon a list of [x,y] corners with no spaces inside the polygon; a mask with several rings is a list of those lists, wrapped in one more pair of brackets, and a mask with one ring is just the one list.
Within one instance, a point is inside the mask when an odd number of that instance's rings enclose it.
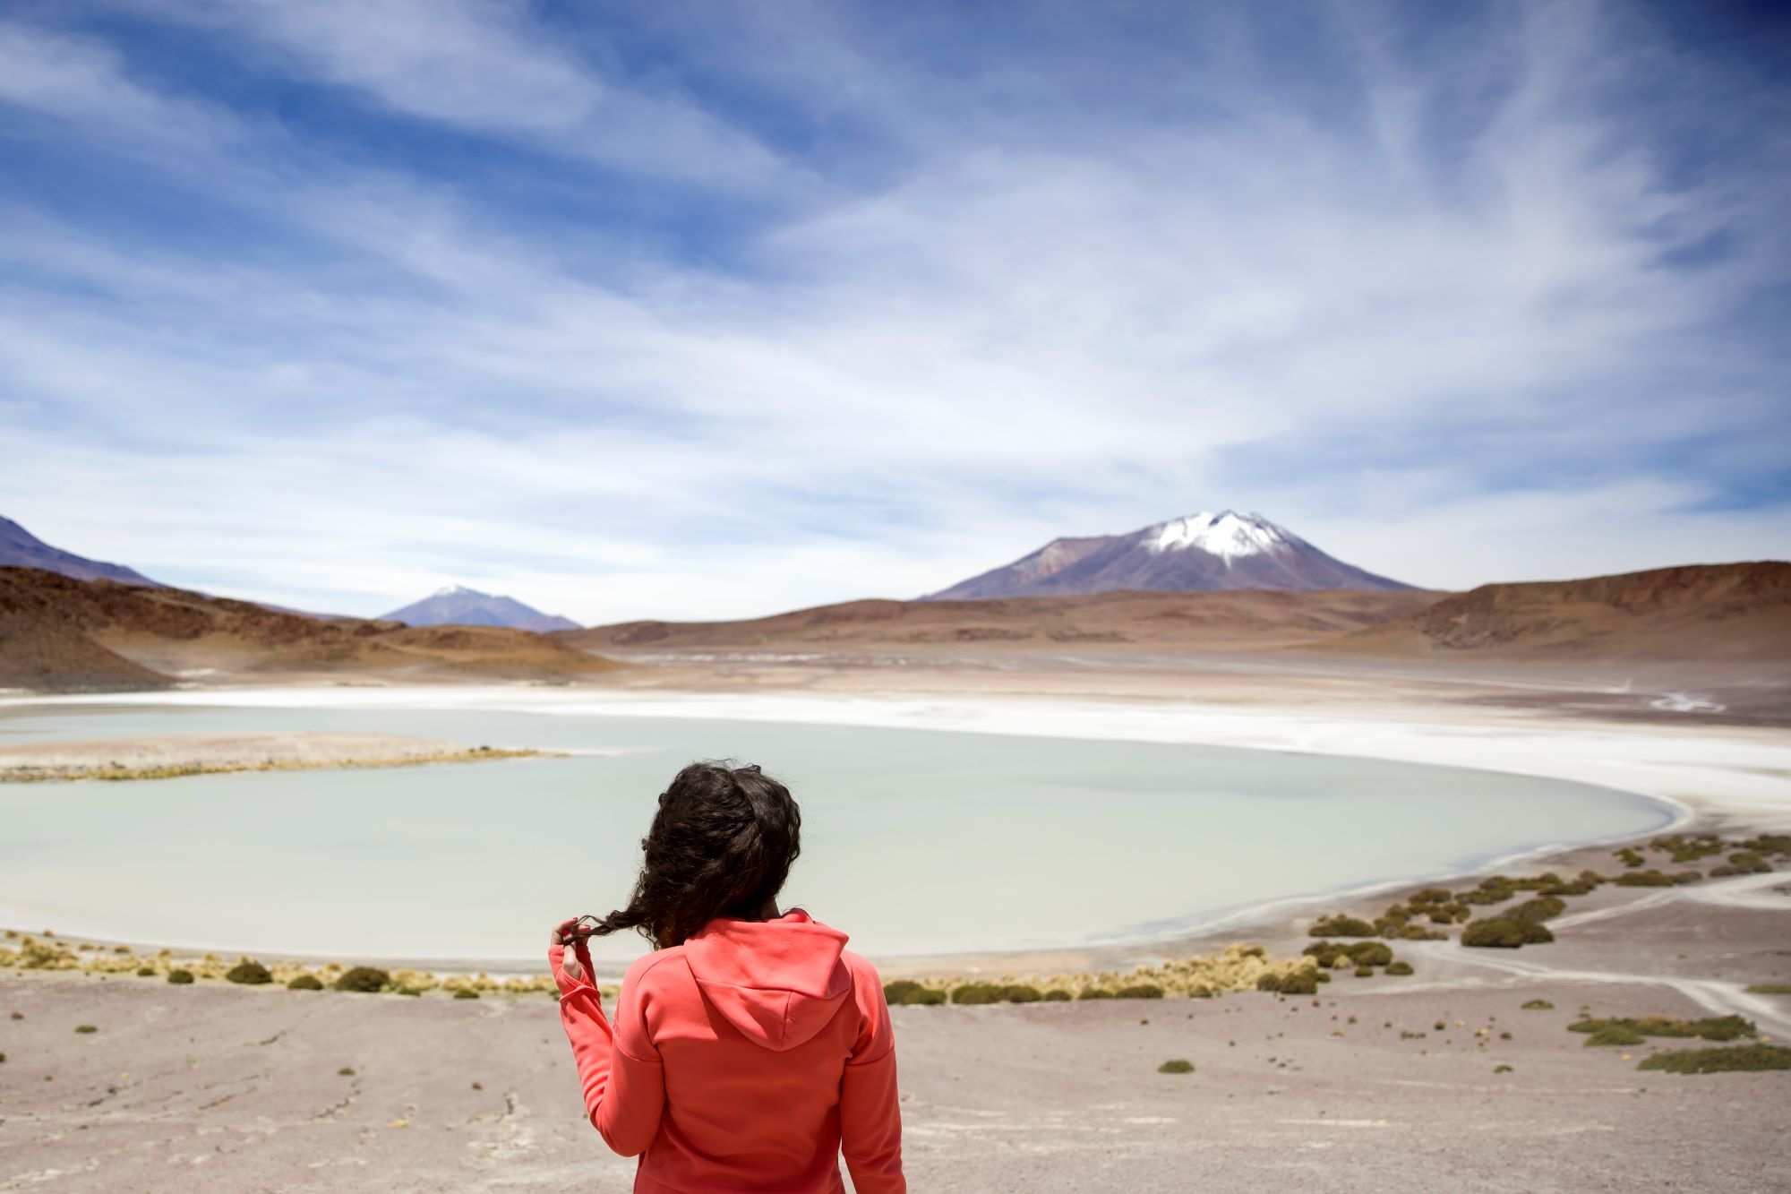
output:
{"label": "entire band of brown arid hills stretching across behind the lagoon", "polygon": [[1791,563],[1689,565],[1580,581],[1426,592],[1114,592],[849,601],[731,622],[636,620],[537,635],[317,620],[176,588],[0,568],[0,687],[179,681],[509,679],[620,667],[598,651],[1318,651],[1358,658],[1791,662]]}

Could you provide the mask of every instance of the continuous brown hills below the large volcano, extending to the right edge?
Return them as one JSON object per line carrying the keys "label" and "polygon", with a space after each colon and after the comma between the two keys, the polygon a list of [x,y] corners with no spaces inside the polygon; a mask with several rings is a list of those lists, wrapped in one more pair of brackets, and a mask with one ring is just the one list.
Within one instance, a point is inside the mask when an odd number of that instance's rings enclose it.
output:
{"label": "continuous brown hills below the large volcano, extending to the right edge", "polygon": [[1791,658],[1791,563],[1685,565],[1435,592],[1110,592],[849,601],[733,622],[618,622],[555,635],[587,649],[700,651],[980,644],[1488,660]]}

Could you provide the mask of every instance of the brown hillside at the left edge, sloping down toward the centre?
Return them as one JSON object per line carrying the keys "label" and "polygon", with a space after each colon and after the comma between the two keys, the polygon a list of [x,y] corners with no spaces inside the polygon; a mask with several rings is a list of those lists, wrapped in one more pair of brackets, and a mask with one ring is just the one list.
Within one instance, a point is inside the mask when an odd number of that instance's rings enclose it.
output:
{"label": "brown hillside at the left edge, sloping down toward the centre", "polygon": [[580,679],[611,660],[528,631],[319,620],[177,588],[0,568],[0,687],[159,688],[183,678]]}

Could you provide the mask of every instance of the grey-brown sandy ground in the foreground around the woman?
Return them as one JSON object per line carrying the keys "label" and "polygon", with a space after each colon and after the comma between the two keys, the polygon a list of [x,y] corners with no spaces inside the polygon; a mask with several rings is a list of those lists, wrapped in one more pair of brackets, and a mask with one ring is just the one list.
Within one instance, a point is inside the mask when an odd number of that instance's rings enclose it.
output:
{"label": "grey-brown sandy ground in the foreground around the woman", "polygon": [[[1791,1072],[1639,1072],[1655,1045],[1589,1049],[1565,1031],[1581,1009],[1701,1017],[1746,999],[1762,1034],[1791,1034],[1791,997],[1741,993],[1791,979],[1791,920],[1773,905],[1791,896],[1655,895],[1623,893],[1615,914],[1510,956],[1401,947],[1411,979],[1343,972],[1316,1002],[896,1008],[912,1185],[1786,1189]],[[1530,999],[1555,1008],[1524,1011]],[[0,1018],[0,1190],[630,1187],[632,1162],[584,1120],[544,997],[0,972],[0,1017],[14,1011]],[[1170,1058],[1195,1072],[1159,1074]]]}

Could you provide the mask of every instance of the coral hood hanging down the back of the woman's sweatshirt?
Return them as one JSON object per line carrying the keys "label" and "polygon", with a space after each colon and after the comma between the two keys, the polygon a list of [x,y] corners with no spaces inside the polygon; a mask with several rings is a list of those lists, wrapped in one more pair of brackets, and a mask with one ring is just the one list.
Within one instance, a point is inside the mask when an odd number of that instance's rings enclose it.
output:
{"label": "coral hood hanging down the back of the woman's sweatshirt", "polygon": [[793,909],[777,920],[711,920],[684,941],[684,961],[729,1024],[783,1052],[815,1036],[851,995],[844,948],[844,932]]}

